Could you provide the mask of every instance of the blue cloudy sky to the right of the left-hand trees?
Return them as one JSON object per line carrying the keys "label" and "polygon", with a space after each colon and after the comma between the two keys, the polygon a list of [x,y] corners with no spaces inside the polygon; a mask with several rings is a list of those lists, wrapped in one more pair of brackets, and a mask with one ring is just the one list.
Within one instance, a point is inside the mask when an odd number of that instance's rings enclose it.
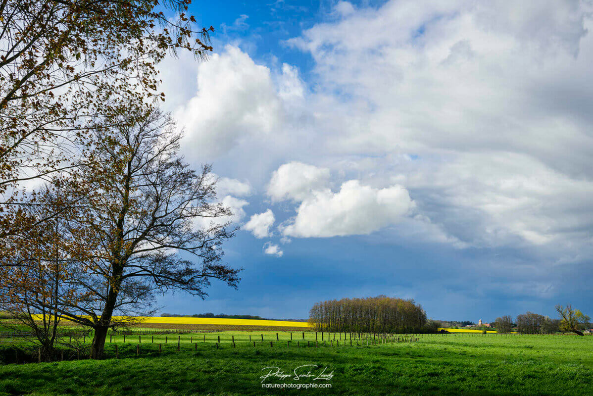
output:
{"label": "blue cloudy sky to the right of the left-hand trees", "polygon": [[307,318],[413,298],[429,318],[593,313],[593,3],[193,2],[207,62],[160,65],[181,152],[241,227],[238,290],[161,312]]}

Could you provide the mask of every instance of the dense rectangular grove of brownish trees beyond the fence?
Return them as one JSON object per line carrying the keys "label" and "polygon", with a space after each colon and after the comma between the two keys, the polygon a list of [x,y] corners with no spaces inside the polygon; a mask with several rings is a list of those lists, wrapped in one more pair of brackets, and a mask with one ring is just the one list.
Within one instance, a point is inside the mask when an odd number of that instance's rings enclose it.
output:
{"label": "dense rectangular grove of brownish trees beyond the fence", "polygon": [[413,299],[377,296],[318,302],[309,322],[317,331],[412,333],[429,331],[426,312]]}

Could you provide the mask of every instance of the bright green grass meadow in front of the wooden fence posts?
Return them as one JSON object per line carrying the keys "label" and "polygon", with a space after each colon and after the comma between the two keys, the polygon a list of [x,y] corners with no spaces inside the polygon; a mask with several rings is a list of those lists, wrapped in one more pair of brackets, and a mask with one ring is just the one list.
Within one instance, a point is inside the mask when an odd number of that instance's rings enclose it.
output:
{"label": "bright green grass meadow in front of the wooden fence posts", "polygon": [[[240,335],[237,334],[236,337]],[[227,338],[227,337],[225,337]],[[242,336],[241,338],[244,338]],[[0,395],[584,395],[593,394],[593,337],[420,335],[416,343],[297,347],[248,341],[169,345],[117,343],[120,359],[0,366]],[[113,348],[111,344],[108,348]],[[122,358],[123,357],[123,358]],[[301,365],[318,365],[295,381]],[[288,378],[265,384],[277,366]],[[318,379],[324,367],[329,381]],[[298,369],[306,373],[307,369]]]}

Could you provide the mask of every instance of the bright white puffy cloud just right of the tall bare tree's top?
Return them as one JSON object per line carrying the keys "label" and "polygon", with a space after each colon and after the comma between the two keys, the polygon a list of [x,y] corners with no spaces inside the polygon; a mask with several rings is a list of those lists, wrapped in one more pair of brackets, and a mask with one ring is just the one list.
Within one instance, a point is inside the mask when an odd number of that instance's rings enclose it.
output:
{"label": "bright white puffy cloud just right of the tall bare tree's top", "polygon": [[197,65],[197,90],[174,113],[186,129],[183,146],[192,157],[216,157],[280,125],[283,107],[270,69],[237,47],[227,46]]}

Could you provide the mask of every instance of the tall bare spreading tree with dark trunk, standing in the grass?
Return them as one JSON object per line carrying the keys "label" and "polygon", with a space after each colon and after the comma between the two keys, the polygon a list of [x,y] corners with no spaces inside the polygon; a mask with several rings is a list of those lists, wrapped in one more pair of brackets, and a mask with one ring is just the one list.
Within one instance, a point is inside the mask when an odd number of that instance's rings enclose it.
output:
{"label": "tall bare spreading tree with dark trunk, standing in the grass", "polygon": [[[133,122],[130,122],[132,116]],[[75,276],[87,299],[63,316],[94,329],[100,358],[117,312],[145,315],[155,292],[177,289],[204,298],[210,279],[237,287],[238,270],[221,263],[234,235],[228,207],[216,202],[211,167],[196,173],[178,157],[181,133],[154,108],[128,109],[99,127],[97,161],[77,170],[92,186],[82,205],[93,260]]]}

